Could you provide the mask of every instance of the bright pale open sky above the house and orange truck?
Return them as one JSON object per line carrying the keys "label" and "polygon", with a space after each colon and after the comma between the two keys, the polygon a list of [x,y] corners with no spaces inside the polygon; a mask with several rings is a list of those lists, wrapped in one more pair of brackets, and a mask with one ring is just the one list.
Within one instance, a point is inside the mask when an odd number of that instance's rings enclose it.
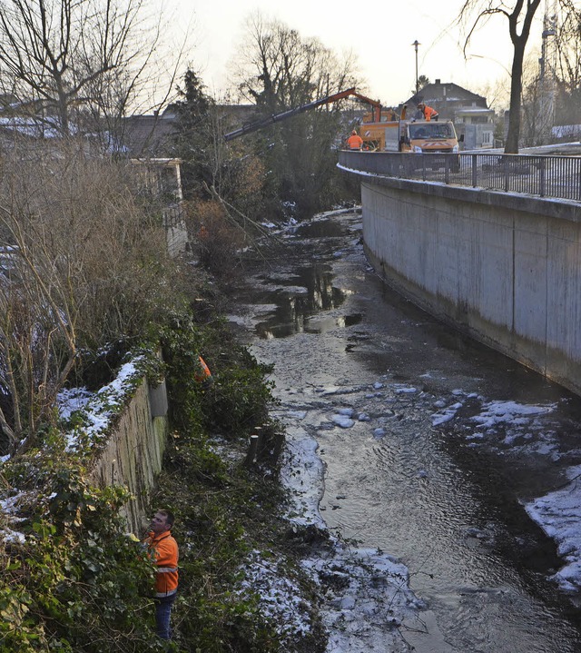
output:
{"label": "bright pale open sky above the house and orange truck", "polygon": [[[408,99],[415,87],[414,41],[419,41],[418,74],[430,81],[454,82],[485,94],[487,85],[502,79],[512,61],[506,19],[496,16],[473,39],[468,61],[463,37],[454,25],[463,0],[426,0],[360,5],[341,0],[168,0],[177,8],[179,23],[191,25],[192,67],[212,94],[228,87],[228,64],[238,52],[245,19],[256,11],[296,29],[302,37],[316,36],[337,54],[352,51],[359,61],[365,94],[391,105]],[[528,49],[540,51],[543,4]]]}

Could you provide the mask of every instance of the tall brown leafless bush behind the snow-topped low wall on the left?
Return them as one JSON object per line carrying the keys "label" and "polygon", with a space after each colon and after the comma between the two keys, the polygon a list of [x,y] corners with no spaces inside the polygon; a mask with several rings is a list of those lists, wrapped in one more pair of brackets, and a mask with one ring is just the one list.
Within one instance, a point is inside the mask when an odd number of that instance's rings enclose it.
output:
{"label": "tall brown leafless bush behind the snow-topped low wall on the left", "polygon": [[77,352],[143,335],[176,274],[161,206],[133,193],[129,163],[36,142],[2,165],[0,427],[14,450],[50,416]]}

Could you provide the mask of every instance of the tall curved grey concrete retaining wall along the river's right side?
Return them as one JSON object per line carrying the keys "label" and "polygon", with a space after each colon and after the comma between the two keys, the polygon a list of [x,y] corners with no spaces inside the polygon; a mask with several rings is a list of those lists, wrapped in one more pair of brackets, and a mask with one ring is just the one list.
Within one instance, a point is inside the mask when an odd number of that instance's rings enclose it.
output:
{"label": "tall curved grey concrete retaining wall along the river's right side", "polygon": [[361,180],[366,251],[389,284],[581,393],[581,205]]}

